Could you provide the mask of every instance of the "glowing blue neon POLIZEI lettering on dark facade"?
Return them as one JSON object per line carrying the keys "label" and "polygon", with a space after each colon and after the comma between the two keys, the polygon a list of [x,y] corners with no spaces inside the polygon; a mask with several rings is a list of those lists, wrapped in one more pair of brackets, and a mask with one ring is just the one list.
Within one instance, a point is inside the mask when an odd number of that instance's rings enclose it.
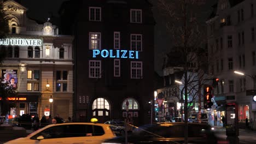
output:
{"label": "glowing blue neon POLIZEI lettering on dark facade", "polygon": [[92,50],[92,57],[96,56],[110,57],[110,58],[131,58],[138,59],[138,51],[127,50]]}

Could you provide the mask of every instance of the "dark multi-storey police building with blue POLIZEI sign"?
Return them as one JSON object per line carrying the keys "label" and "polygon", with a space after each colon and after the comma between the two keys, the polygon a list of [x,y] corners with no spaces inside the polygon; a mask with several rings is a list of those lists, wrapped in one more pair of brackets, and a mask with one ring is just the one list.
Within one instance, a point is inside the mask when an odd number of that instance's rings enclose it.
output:
{"label": "dark multi-storey police building with blue POLIZEI sign", "polygon": [[75,118],[99,122],[131,114],[150,123],[154,100],[152,4],[83,1],[75,22]]}

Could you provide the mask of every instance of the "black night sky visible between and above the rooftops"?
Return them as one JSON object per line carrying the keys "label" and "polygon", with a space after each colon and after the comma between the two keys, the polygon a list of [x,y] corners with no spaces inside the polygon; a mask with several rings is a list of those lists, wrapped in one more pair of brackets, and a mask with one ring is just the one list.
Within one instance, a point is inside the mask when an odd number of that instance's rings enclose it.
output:
{"label": "black night sky visible between and above the rooftops", "polygon": [[[27,16],[39,21],[46,21],[53,13],[53,16],[58,17],[58,10],[62,2],[66,0],[21,0],[21,4],[28,9]],[[155,71],[162,75],[162,63],[165,54],[171,49],[171,38],[168,36],[170,33],[166,31],[165,21],[162,19],[159,9],[155,7],[156,0],[149,0],[153,5],[153,13],[156,21],[155,26]],[[207,4],[202,9],[207,15],[211,13],[211,6],[217,0],[206,0]]]}

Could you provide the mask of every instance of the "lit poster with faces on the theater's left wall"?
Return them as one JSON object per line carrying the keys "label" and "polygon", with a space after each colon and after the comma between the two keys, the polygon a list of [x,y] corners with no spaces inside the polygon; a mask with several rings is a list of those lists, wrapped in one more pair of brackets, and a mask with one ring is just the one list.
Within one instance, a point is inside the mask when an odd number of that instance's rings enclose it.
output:
{"label": "lit poster with faces on the theater's left wall", "polygon": [[17,89],[18,70],[2,69],[1,76],[2,83],[7,83],[10,87]]}

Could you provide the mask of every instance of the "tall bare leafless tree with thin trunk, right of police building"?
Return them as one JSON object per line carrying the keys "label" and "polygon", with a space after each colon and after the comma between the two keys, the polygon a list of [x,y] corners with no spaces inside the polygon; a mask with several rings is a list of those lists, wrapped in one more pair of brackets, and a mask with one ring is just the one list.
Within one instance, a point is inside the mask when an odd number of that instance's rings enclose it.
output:
{"label": "tall bare leafless tree with thin trunk, right of police building", "polygon": [[202,61],[201,58],[206,56],[203,4],[203,0],[158,0],[158,8],[165,14],[166,28],[171,35],[171,49],[180,53],[179,66],[184,73],[180,92],[181,100],[184,100],[185,143],[188,143],[188,110],[191,101],[200,99],[201,102],[201,86],[205,74],[202,66],[207,62],[207,59]]}

